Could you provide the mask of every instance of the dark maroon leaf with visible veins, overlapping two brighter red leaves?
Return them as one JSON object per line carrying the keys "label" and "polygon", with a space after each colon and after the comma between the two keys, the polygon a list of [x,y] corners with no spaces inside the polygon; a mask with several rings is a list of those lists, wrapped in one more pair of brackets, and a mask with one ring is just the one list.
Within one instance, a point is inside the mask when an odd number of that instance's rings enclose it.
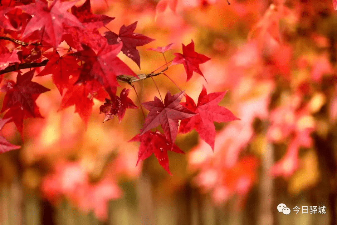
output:
{"label": "dark maroon leaf with visible veins, overlapping two brighter red leaves", "polygon": [[156,96],[154,101],[142,103],[150,112],[144,121],[141,135],[161,124],[164,134],[173,148],[178,133],[178,120],[196,115],[196,113],[179,104],[184,93],[185,91],[182,91],[171,96],[171,93],[167,91],[164,103]]}

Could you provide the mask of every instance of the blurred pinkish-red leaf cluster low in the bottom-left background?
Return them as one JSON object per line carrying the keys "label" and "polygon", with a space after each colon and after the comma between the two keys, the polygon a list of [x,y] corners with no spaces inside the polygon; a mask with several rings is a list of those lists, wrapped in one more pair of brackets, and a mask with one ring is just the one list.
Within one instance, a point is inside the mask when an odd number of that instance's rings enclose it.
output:
{"label": "blurred pinkish-red leaf cluster low in the bottom-left background", "polygon": [[96,183],[90,182],[88,173],[79,162],[58,162],[53,173],[43,178],[41,191],[45,199],[55,204],[61,196],[66,196],[85,213],[92,210],[100,220],[108,218],[109,200],[122,195],[111,174]]}

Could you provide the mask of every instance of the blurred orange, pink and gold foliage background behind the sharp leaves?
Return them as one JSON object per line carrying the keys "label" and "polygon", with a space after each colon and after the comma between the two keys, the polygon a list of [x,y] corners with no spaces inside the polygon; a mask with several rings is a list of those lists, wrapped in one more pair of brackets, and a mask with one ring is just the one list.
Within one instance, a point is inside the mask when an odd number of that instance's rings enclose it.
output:
{"label": "blurred orange, pink and gold foliage background behind the sharp leaves", "polygon": [[[241,120],[215,123],[214,152],[195,131],[178,135],[186,154],[168,152],[170,176],[154,156],[135,167],[139,146],[128,140],[142,128],[140,109],[127,110],[120,124],[102,123],[96,101],[86,130],[73,107],[57,112],[61,96],[50,75],[34,77],[52,91],[37,99],[45,118],[25,121],[24,143],[13,123],[1,131],[22,145],[0,155],[1,224],[336,224],[332,2],[230,2],[179,0],[174,12],[156,12],[157,1],[91,1],[94,13],[116,17],[110,30],[138,21],[135,32],[156,39],[137,48],[141,70],[119,55],[137,74],[165,63],[147,48],[175,43],[165,53],[172,60],[193,39],[195,51],[212,58],[201,65],[207,83],[199,75],[185,82],[182,65],[167,75],[194,100],[203,85],[228,90],[220,105]],[[162,95],[178,92],[165,76],[154,80]],[[151,79],[135,88],[142,102],[158,95]],[[129,97],[139,105],[134,91]],[[290,215],[278,213],[279,203]],[[326,214],[296,214],[295,206],[326,206]]]}

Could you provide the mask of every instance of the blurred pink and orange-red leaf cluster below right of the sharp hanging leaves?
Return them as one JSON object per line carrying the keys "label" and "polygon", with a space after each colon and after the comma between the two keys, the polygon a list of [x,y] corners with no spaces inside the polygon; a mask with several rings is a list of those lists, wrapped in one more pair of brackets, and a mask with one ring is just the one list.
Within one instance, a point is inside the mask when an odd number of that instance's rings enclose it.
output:
{"label": "blurred pink and orange-red leaf cluster below right of the sharp hanging leaves", "polygon": [[266,97],[262,97],[239,107],[241,120],[228,124],[216,135],[214,154],[208,151],[206,140],[189,154],[190,169],[200,171],[195,177],[196,184],[202,191],[211,191],[213,201],[218,205],[237,194],[242,206],[256,181],[259,160],[253,156],[240,158],[239,155],[254,135],[251,126],[254,118],[268,117],[267,103]]}

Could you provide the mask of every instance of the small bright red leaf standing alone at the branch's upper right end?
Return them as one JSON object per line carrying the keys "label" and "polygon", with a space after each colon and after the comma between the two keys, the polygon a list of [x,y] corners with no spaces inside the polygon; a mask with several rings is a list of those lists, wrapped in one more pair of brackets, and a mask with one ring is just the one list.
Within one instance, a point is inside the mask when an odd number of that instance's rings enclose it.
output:
{"label": "small bright red leaf standing alone at the branch's upper right end", "polygon": [[[199,64],[207,62],[211,58],[208,58],[205,55],[199,54],[194,51],[194,42],[191,40],[191,43],[187,46],[183,45],[183,54],[173,53],[176,57],[173,59],[171,65],[183,64],[187,74],[187,80],[191,79],[193,71],[200,74],[204,77],[203,73],[199,68]],[[204,77],[205,78],[205,77]],[[206,80],[206,78],[205,78]]]}

